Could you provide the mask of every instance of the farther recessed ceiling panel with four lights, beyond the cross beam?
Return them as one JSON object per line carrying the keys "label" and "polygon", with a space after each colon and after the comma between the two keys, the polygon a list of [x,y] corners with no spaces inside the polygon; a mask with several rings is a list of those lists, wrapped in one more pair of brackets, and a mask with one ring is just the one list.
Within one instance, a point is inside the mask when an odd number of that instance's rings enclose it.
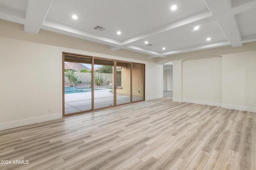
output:
{"label": "farther recessed ceiling panel with four lights, beyond the cross beam", "polygon": [[[194,30],[193,25],[199,26],[199,29]],[[210,38],[211,40],[207,41],[207,38]],[[226,36],[220,29],[218,23],[216,21],[210,21],[201,25],[194,23],[171,29],[146,39],[136,41],[134,45],[161,53],[164,51],[186,49],[187,47],[226,40]],[[148,43],[153,44],[153,46],[147,47],[144,44],[144,41],[148,41]],[[162,47],[165,47],[165,50],[163,50]]]}

